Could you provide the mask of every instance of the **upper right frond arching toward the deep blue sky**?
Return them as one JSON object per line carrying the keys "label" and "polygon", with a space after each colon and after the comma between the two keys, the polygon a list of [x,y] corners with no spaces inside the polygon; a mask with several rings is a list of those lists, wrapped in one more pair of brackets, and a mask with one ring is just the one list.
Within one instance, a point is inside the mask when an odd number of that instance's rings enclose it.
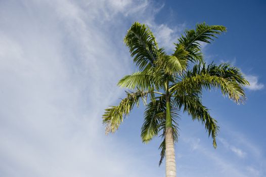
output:
{"label": "upper right frond arching toward the deep blue sky", "polygon": [[[226,27],[220,25],[207,25],[200,23],[196,25],[196,30],[186,30],[185,35],[179,38],[179,42],[176,43],[176,48],[180,45],[185,47],[185,50],[189,53],[189,60],[192,62],[203,62],[203,55],[201,53],[201,43],[210,43],[213,38],[217,37],[217,34],[221,34],[226,31]],[[176,49],[177,51],[177,49]],[[175,51],[175,52],[176,52]]]}

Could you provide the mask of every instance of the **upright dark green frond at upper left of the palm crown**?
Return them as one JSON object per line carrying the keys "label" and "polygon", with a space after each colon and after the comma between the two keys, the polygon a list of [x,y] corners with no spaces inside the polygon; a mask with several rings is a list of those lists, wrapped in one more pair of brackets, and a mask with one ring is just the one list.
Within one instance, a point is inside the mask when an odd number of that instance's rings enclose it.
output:
{"label": "upright dark green frond at upper left of the palm crown", "polygon": [[158,49],[157,42],[150,29],[138,22],[135,22],[129,28],[124,42],[140,70],[153,66],[154,61],[157,59],[160,51],[162,51],[162,49]]}

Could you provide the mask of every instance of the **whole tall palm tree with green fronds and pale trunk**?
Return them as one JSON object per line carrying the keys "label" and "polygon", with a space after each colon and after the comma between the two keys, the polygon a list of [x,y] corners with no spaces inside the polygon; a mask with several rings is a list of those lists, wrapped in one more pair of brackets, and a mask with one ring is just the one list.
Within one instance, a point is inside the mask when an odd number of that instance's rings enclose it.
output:
{"label": "whole tall palm tree with green fronds and pale trunk", "polygon": [[118,82],[128,90],[118,106],[105,110],[106,133],[115,132],[123,118],[135,105],[139,106],[142,99],[146,109],[141,138],[144,143],[156,136],[162,138],[159,165],[166,157],[166,177],[176,176],[174,143],[178,140],[180,111],[205,125],[216,148],[219,127],[202,105],[202,90],[220,89],[224,96],[238,104],[246,99],[243,86],[249,83],[238,68],[227,63],[207,65],[203,59],[201,44],[210,43],[217,34],[225,31],[224,26],[197,24],[195,30],[186,30],[174,43],[171,55],[158,47],[153,33],[144,24],[135,22],[124,38],[139,71]]}

